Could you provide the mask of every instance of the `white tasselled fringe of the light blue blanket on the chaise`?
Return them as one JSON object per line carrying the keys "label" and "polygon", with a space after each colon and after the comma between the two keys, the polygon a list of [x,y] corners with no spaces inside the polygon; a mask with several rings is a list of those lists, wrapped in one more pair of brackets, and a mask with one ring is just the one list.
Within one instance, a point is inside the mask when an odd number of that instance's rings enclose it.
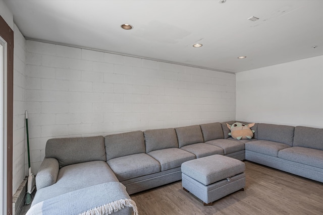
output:
{"label": "white tasselled fringe of the light blue blanket on the chaise", "polygon": [[132,207],[133,214],[138,215],[138,208],[137,208],[136,202],[132,199],[119,199],[117,201],[113,201],[113,202],[104,204],[100,207],[95,207],[93,209],[85,211],[83,213],[80,213],[79,215],[105,215],[105,214],[107,215],[113,212],[117,212],[118,210],[121,210],[125,206]]}

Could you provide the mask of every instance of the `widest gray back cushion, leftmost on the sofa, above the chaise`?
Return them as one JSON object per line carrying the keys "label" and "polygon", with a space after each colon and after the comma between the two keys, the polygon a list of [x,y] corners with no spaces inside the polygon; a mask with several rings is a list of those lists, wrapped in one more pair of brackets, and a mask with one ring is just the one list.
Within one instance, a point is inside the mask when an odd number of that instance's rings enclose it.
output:
{"label": "widest gray back cushion, leftmost on the sofa, above the chaise", "polygon": [[88,161],[106,161],[103,136],[48,139],[45,158],[55,158],[60,168]]}

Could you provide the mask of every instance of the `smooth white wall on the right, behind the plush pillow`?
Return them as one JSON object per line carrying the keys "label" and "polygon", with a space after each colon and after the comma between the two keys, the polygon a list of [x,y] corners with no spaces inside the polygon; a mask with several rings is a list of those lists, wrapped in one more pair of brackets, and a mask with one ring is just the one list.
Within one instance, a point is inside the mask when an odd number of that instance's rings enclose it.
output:
{"label": "smooth white wall on the right, behind the plush pillow", "polygon": [[323,56],[236,74],[236,119],[323,128]]}

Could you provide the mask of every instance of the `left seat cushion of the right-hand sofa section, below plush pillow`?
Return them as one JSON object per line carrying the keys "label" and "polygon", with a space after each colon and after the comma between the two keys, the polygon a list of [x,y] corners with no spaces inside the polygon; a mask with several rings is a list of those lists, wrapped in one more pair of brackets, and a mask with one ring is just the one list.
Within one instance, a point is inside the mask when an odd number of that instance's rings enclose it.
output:
{"label": "left seat cushion of the right-hand sofa section, below plush pillow", "polygon": [[247,151],[278,157],[278,152],[280,150],[290,148],[290,146],[287,144],[281,144],[280,142],[273,142],[268,140],[257,140],[257,141],[247,142],[245,144],[245,148]]}

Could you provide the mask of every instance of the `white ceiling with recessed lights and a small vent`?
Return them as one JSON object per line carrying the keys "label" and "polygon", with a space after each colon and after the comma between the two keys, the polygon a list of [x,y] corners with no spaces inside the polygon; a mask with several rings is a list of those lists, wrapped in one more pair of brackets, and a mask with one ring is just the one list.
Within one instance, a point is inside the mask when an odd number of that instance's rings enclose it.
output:
{"label": "white ceiling with recessed lights and a small vent", "polygon": [[5,3],[27,39],[230,73],[323,55],[322,0]]}

